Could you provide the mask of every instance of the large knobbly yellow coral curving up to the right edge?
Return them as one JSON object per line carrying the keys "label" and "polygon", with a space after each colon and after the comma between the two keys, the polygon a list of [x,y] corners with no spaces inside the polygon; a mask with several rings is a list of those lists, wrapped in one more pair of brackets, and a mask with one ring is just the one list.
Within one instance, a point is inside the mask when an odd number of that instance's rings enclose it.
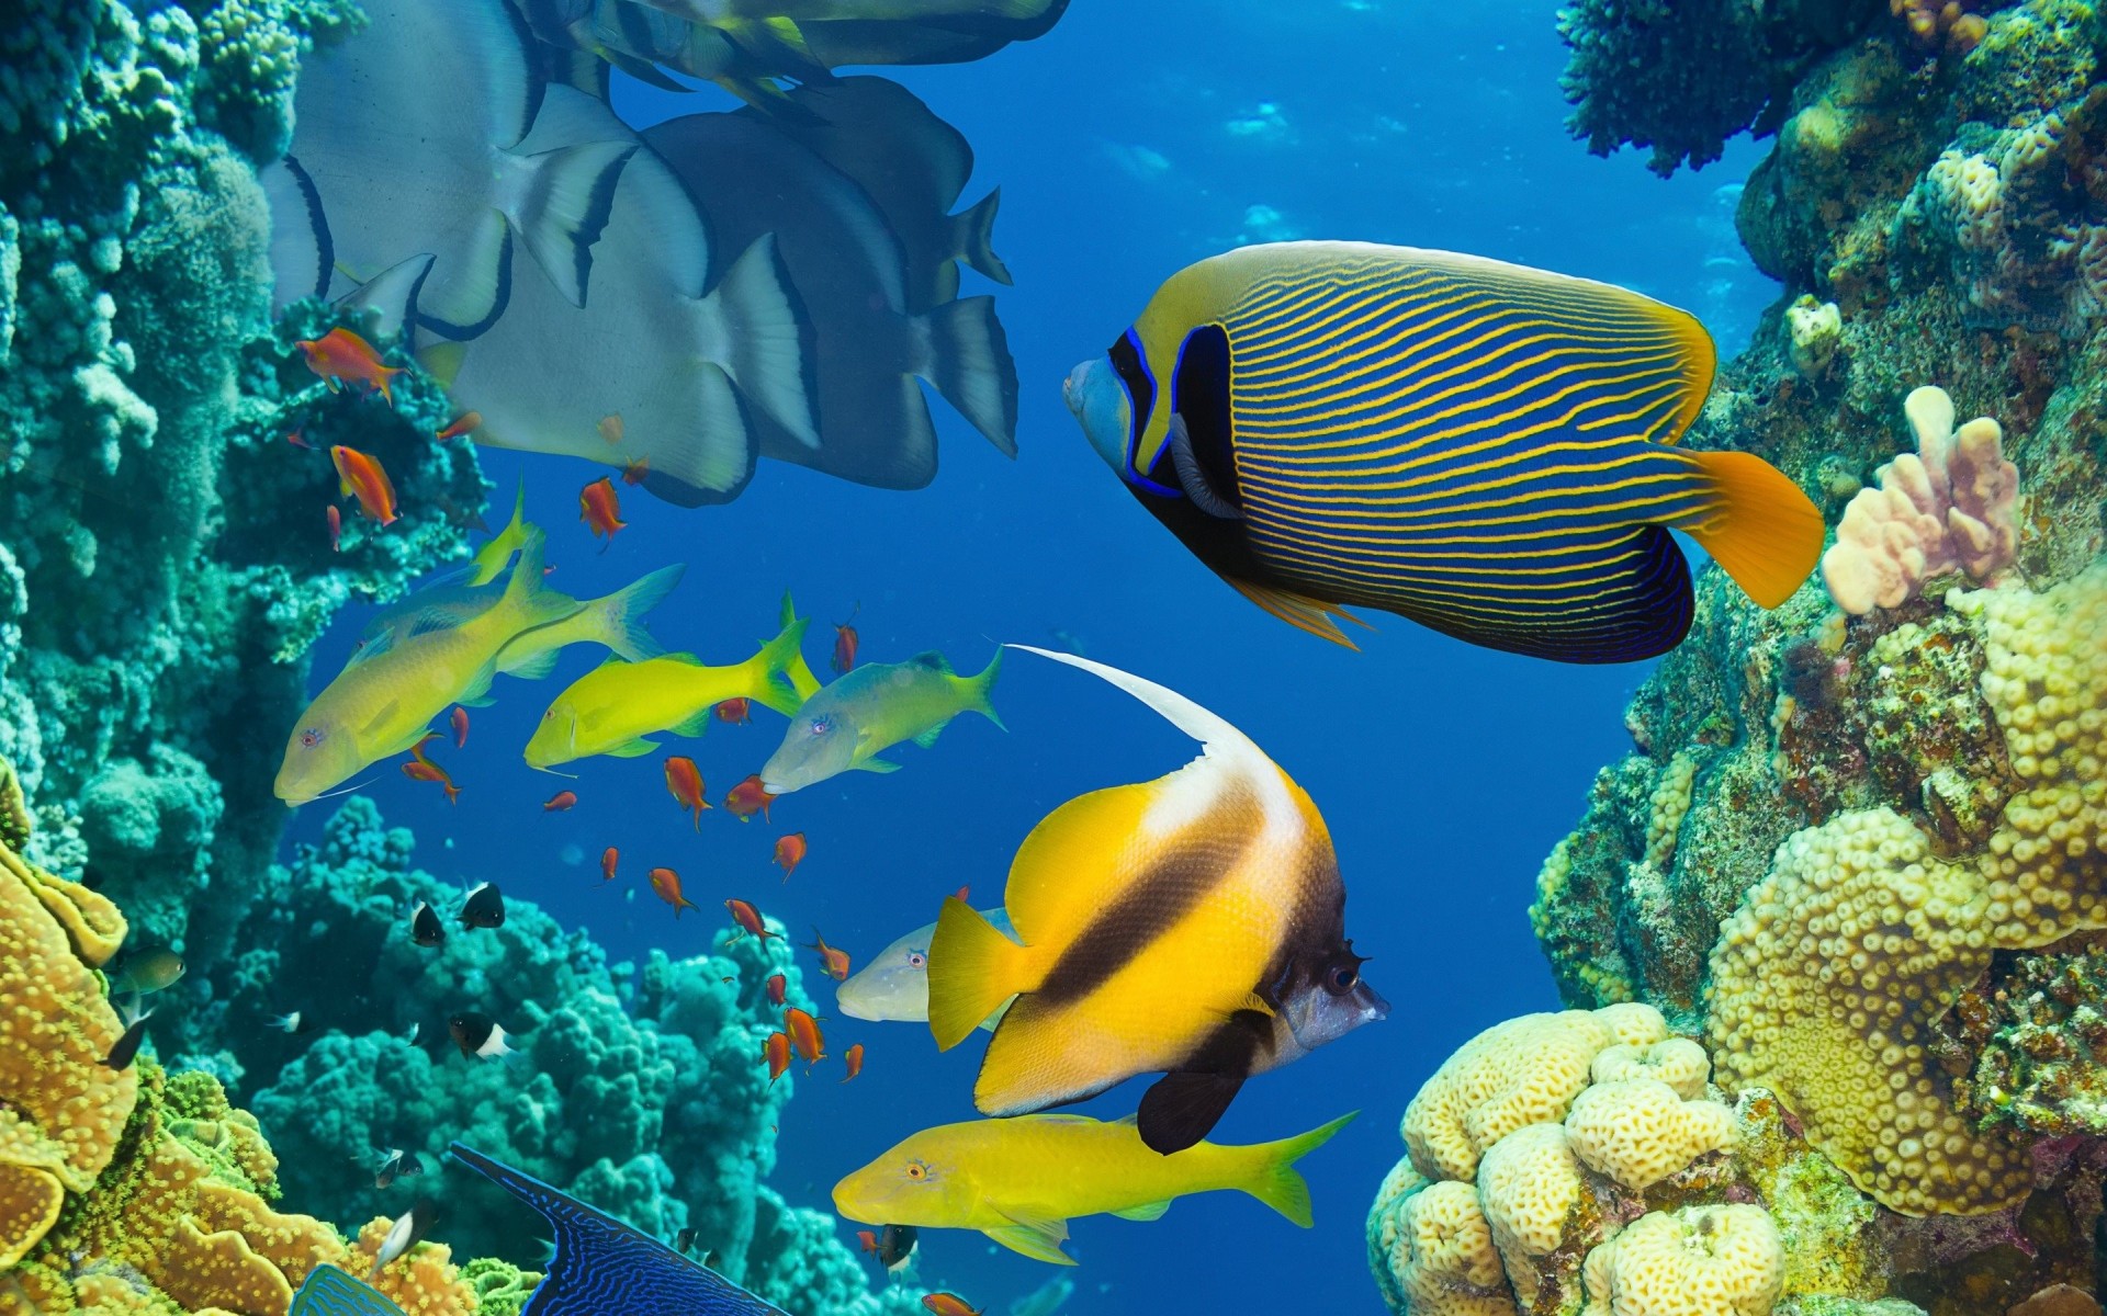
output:
{"label": "large knobbly yellow coral curving up to the right edge", "polygon": [[2107,560],[2035,594],[1955,594],[2021,781],[1983,853],[1941,859],[1888,809],[1778,849],[1713,948],[1721,1082],[1759,1084],[1858,1188],[1896,1211],[2025,1196],[2010,1131],[1976,1133],[1928,1063],[1932,1021],[1995,950],[2107,926]]}

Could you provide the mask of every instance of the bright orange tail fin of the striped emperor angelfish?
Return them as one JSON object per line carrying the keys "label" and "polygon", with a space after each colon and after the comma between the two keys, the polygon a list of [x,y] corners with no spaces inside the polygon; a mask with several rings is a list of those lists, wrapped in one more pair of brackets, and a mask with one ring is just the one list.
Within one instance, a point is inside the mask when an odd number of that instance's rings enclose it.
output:
{"label": "bright orange tail fin of the striped emperor angelfish", "polygon": [[1719,503],[1702,520],[1677,526],[1757,606],[1791,598],[1823,556],[1823,514],[1785,472],[1751,453],[1688,453]]}

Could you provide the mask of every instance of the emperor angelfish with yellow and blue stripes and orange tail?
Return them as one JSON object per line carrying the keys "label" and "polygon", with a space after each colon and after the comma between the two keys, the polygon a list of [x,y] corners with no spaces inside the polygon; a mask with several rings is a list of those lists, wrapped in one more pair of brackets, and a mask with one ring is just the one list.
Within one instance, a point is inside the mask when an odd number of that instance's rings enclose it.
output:
{"label": "emperor angelfish with yellow and blue stripes and orange tail", "polygon": [[1174,274],[1068,406],[1222,579],[1348,644],[1344,604],[1488,649],[1618,663],[1690,630],[1688,531],[1761,606],[1814,503],[1675,440],[1713,345],[1637,293],[1479,257],[1277,242]]}

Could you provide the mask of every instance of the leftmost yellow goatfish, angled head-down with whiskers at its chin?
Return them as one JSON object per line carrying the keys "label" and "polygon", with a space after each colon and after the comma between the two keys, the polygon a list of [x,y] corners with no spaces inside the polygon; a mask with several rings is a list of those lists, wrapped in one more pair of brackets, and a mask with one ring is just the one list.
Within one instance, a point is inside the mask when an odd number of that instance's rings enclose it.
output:
{"label": "leftmost yellow goatfish, angled head-down with whiskers at its chin", "polygon": [[274,785],[287,804],[306,804],[390,754],[402,754],[451,703],[480,699],[497,676],[497,655],[520,632],[563,621],[579,609],[541,587],[541,531],[520,545],[497,602],[472,617],[434,615],[428,630],[390,630],[367,640],[293,726]]}

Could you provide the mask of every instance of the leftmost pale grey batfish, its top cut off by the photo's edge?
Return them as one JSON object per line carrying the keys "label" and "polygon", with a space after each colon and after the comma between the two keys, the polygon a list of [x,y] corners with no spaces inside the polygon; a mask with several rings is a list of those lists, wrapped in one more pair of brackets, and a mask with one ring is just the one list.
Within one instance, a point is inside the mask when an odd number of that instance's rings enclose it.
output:
{"label": "leftmost pale grey batfish, its top cut off by the photo's edge", "polygon": [[449,339],[491,328],[527,274],[584,305],[636,143],[525,141],[563,105],[504,0],[362,8],[367,27],[301,61],[293,147],[265,179],[276,301],[337,299],[424,253],[415,324]]}

